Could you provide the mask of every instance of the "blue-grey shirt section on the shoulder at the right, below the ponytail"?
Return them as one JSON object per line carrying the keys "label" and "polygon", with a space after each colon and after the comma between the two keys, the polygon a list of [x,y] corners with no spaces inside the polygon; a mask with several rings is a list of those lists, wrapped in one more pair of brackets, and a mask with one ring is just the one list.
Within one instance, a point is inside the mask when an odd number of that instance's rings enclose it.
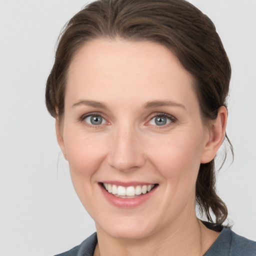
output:
{"label": "blue-grey shirt section on the shoulder at the right, below the ponytail", "polygon": [[256,242],[223,228],[204,256],[256,256]]}

